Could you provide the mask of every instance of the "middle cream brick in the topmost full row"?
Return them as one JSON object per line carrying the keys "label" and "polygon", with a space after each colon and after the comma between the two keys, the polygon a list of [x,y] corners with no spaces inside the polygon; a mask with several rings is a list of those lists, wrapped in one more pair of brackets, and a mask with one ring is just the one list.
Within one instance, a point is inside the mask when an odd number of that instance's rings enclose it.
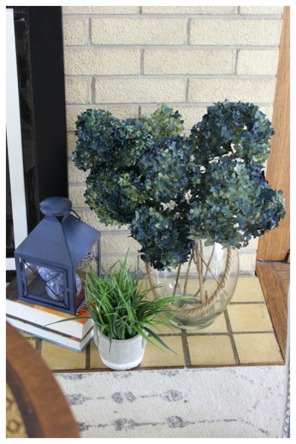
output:
{"label": "middle cream brick in the topmost full row", "polygon": [[91,21],[91,38],[105,45],[180,45],[184,29],[183,19],[102,18]]}

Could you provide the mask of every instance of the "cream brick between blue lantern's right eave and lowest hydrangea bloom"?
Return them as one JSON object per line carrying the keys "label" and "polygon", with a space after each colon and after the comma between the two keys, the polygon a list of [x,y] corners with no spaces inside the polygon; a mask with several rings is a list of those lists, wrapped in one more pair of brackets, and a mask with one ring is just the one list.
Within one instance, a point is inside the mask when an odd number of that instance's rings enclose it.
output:
{"label": "cream brick between blue lantern's right eave and lowest hydrangea bloom", "polygon": [[102,254],[112,253],[138,253],[141,249],[140,244],[135,241],[129,234],[108,234],[105,233],[101,237]]}

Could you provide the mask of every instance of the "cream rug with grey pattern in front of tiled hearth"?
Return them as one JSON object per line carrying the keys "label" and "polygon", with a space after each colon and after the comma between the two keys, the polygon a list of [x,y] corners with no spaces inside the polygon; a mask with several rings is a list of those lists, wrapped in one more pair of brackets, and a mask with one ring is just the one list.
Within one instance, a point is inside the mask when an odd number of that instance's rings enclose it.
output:
{"label": "cream rug with grey pattern in front of tiled hearth", "polygon": [[285,366],[56,373],[82,438],[278,438]]}

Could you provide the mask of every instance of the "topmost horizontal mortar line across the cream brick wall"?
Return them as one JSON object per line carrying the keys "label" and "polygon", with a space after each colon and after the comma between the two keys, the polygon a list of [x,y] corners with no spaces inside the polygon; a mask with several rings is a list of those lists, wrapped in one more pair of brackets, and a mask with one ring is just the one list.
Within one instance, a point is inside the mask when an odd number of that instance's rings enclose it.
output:
{"label": "topmost horizontal mortar line across the cream brick wall", "polygon": [[106,19],[106,18],[129,18],[129,19],[185,19],[185,18],[193,18],[193,19],[205,19],[205,20],[282,20],[281,14],[62,14],[63,19],[72,18],[72,19],[85,19],[85,18],[93,18],[93,19]]}

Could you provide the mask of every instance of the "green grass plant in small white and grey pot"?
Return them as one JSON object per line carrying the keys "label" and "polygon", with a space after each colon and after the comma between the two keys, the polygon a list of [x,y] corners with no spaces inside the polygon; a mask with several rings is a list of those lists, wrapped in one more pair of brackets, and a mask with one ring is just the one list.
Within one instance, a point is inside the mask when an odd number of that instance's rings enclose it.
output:
{"label": "green grass plant in small white and grey pot", "polygon": [[145,279],[133,277],[127,267],[127,256],[104,271],[102,277],[89,268],[84,283],[87,309],[94,322],[94,340],[107,367],[112,370],[136,367],[143,359],[147,342],[171,350],[156,332],[160,331],[159,325],[168,323],[177,314],[175,309],[169,317],[163,316],[175,298],[149,298],[157,286],[150,288]]}

